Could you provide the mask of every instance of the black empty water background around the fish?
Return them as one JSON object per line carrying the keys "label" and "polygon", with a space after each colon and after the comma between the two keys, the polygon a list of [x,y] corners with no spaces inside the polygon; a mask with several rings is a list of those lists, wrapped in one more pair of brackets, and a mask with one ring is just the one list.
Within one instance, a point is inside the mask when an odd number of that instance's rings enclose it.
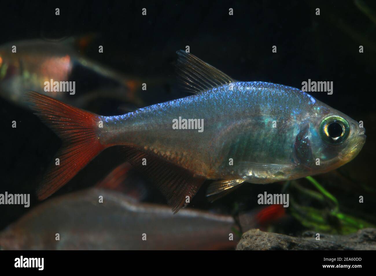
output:
{"label": "black empty water background around the fish", "polygon": [[[375,13],[375,2],[364,2]],[[188,95],[174,84],[175,52],[186,45],[191,53],[237,80],[298,88],[309,78],[333,81],[333,95],[310,94],[356,121],[364,121],[367,142],[358,157],[340,169],[352,184],[322,181],[342,199],[344,208],[354,209],[358,216],[374,213],[376,24],[354,1],[3,1],[0,6],[0,44],[95,33],[96,41],[86,49],[86,56],[124,74],[163,80],[158,91],[143,94],[147,105]],[[60,8],[59,16],[55,8]],[[146,16],[141,15],[142,8],[147,9]],[[233,8],[233,16],[229,8]],[[319,16],[316,8],[320,8]],[[98,45],[103,45],[104,53],[98,53]],[[272,53],[273,45],[277,53]],[[359,45],[364,46],[364,53],[359,53]],[[117,107],[118,103],[103,101],[100,107],[94,104],[89,110],[114,115],[119,113]],[[61,142],[26,109],[0,99],[0,114],[0,193],[32,195],[30,208],[0,207],[2,229],[38,204],[34,196],[37,179]],[[17,128],[11,127],[13,120]],[[121,159],[116,149],[106,149],[53,196],[93,186]],[[149,201],[165,203],[150,189]],[[206,202],[202,189],[190,206],[230,213],[234,202],[247,205],[251,196],[265,189],[278,193],[280,185],[260,188],[247,184],[212,205]],[[356,204],[359,195],[366,198],[360,207]]]}

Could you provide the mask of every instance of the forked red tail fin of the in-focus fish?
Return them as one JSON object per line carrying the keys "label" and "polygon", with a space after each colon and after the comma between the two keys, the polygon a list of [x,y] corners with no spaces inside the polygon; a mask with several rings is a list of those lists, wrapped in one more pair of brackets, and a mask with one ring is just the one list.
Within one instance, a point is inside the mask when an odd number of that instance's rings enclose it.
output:
{"label": "forked red tail fin of the in-focus fish", "polygon": [[98,115],[33,91],[25,92],[25,97],[35,114],[62,139],[37,190],[42,200],[64,186],[105,146],[99,142]]}

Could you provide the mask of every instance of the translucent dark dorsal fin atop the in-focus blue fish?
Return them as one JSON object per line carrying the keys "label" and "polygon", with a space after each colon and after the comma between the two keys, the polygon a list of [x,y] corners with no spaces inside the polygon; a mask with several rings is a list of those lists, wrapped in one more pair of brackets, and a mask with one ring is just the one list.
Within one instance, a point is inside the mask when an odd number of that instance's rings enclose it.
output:
{"label": "translucent dark dorsal fin atop the in-focus blue fish", "polygon": [[179,56],[176,67],[182,86],[190,92],[200,94],[213,87],[234,82],[233,78],[193,54],[184,50],[176,53]]}

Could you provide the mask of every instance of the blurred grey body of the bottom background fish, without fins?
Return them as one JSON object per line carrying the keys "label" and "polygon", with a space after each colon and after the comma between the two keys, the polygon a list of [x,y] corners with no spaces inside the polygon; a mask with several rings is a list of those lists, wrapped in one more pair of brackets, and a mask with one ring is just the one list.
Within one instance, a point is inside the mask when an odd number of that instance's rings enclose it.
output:
{"label": "blurred grey body of the bottom background fish, without fins", "polygon": [[[103,203],[99,202],[103,196]],[[230,216],[145,204],[103,189],[49,199],[0,233],[4,250],[233,249]],[[59,240],[56,240],[56,233]],[[233,240],[230,239],[233,234]]]}

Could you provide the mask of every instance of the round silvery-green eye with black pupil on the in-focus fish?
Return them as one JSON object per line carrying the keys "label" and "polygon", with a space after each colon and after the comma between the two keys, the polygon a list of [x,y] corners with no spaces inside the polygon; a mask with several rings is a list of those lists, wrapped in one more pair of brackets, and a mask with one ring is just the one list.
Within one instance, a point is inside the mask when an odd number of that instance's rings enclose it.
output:
{"label": "round silvery-green eye with black pupil on the in-focus fish", "polygon": [[343,143],[350,133],[349,123],[340,116],[329,116],[320,124],[320,136],[324,142],[338,145]]}

